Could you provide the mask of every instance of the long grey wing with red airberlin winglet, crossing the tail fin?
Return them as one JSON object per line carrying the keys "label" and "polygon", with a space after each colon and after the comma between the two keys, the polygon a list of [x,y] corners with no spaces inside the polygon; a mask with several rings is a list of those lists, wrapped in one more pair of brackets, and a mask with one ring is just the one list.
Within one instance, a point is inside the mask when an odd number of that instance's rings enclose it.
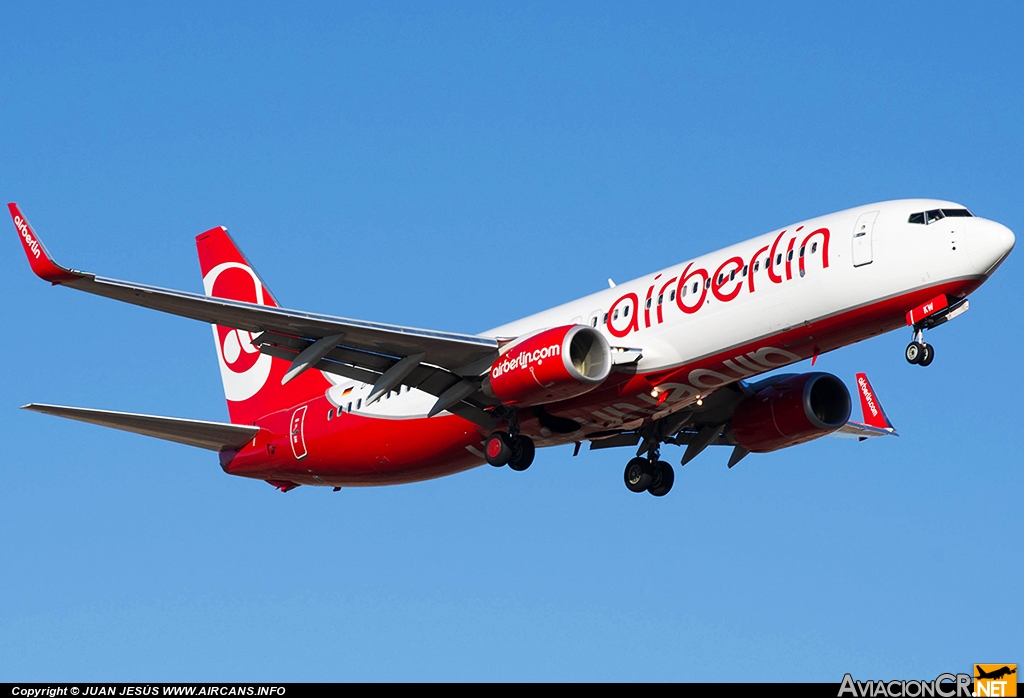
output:
{"label": "long grey wing with red airberlin winglet, crossing the tail fin", "polygon": [[280,353],[281,345],[298,339],[298,347],[289,347],[290,351],[286,352],[288,358],[296,358],[302,353],[302,348],[311,348],[319,340],[334,340],[330,348],[324,347],[325,351],[312,352],[314,360],[311,363],[316,364],[331,348],[340,346],[342,349],[338,351],[348,350],[347,362],[356,370],[364,370],[357,380],[370,383],[374,383],[401,358],[412,355],[417,356],[420,364],[445,369],[444,373],[451,377],[449,383],[459,377],[479,376],[498,357],[498,341],[490,338],[211,298],[71,269],[53,260],[16,204],[8,204],[8,209],[32,270],[40,278],[54,286],[66,286],[173,315],[254,334],[263,333],[262,342],[257,338],[255,343],[267,345],[266,353],[271,353],[274,350],[272,347],[278,347]]}

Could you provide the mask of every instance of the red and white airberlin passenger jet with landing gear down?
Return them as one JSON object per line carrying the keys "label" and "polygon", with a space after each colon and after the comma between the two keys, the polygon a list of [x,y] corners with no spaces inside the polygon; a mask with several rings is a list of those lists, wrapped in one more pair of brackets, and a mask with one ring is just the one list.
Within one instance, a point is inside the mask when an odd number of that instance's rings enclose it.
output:
{"label": "red and white airberlin passenger jet with landing gear down", "polygon": [[523,471],[538,447],[588,442],[636,447],[627,488],[664,496],[665,444],[685,446],[682,466],[731,446],[732,468],[822,436],[893,435],[863,374],[863,422],[833,375],[762,375],[899,328],[906,360],[929,365],[925,332],[967,311],[1015,243],[953,202],[871,204],[464,335],[286,309],[223,227],[196,237],[205,294],[77,271],[8,208],[44,280],[211,323],[229,423],[25,408],[210,449],[281,491]]}

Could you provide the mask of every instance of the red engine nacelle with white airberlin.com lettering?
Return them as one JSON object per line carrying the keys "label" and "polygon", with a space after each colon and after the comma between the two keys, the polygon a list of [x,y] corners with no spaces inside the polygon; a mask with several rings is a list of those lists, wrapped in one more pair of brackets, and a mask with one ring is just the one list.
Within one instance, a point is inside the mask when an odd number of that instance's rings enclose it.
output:
{"label": "red engine nacelle with white airberlin.com lettering", "polygon": [[505,404],[530,406],[588,393],[611,373],[611,348],[586,324],[529,335],[498,357],[483,380],[484,393]]}

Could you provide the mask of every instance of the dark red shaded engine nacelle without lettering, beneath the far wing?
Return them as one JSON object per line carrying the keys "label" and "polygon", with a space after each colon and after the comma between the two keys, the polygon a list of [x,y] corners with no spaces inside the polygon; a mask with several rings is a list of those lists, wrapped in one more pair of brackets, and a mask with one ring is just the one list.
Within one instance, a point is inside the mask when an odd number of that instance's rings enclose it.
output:
{"label": "dark red shaded engine nacelle without lettering, beneath the far wing", "polygon": [[732,435],[767,453],[830,434],[850,419],[850,391],[831,374],[801,374],[762,388],[736,406]]}

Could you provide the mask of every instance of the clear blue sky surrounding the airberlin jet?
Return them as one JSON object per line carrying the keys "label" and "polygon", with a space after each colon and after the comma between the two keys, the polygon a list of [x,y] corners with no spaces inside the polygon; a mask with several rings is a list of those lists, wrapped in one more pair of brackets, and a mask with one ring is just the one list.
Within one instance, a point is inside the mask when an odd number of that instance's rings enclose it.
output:
{"label": "clear blue sky surrounding the airberlin jet", "polygon": [[[851,206],[1024,230],[1019,3],[22,3],[0,192],[58,260],[480,332]],[[281,494],[30,401],[225,420],[210,331],[0,254],[0,680],[833,681],[1024,661],[1021,252],[935,331],[821,357],[899,439],[664,499],[627,454]],[[806,364],[804,364],[806,366]],[[878,441],[882,441],[881,443]],[[678,461],[679,449],[666,455]],[[1013,503],[1018,503],[1014,505]],[[1009,609],[1009,610],[1008,610]]]}

